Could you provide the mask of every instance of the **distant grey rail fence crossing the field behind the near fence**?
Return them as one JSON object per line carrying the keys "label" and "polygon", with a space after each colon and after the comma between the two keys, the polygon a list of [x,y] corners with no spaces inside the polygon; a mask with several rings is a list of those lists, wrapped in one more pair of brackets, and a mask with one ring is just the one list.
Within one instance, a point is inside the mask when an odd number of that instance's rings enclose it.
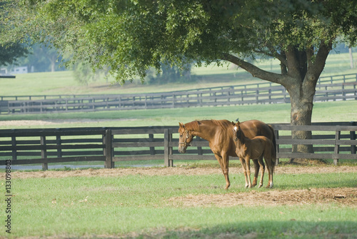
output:
{"label": "distant grey rail fence crossing the field behind the near fence", "polygon": [[[356,100],[356,86],[357,73],[320,78],[316,85],[314,101]],[[92,96],[0,96],[0,99],[0,114],[290,103],[290,96],[286,89],[275,83],[253,83],[164,93]]]}

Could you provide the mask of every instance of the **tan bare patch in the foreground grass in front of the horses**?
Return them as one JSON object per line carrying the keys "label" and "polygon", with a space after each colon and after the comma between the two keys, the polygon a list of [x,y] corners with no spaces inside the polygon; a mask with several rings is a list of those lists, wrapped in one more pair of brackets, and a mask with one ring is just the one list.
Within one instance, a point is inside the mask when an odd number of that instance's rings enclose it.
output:
{"label": "tan bare patch in the foreground grass in front of the horses", "polygon": [[168,203],[182,207],[226,207],[329,204],[347,205],[357,208],[357,188],[309,188],[303,190],[269,190],[246,193],[225,193],[211,195],[186,195],[169,198]]}

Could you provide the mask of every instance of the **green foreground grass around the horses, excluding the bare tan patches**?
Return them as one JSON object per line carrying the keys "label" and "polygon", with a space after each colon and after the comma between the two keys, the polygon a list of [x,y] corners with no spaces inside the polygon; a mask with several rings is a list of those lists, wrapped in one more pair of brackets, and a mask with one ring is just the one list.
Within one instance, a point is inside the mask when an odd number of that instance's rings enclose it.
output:
{"label": "green foreground grass around the horses, excluding the bare tan patches", "polygon": [[[162,233],[166,238],[217,238],[226,233],[237,237],[253,233],[256,238],[352,238],[357,233],[356,211],[343,205],[186,208],[169,201],[185,195],[251,192],[243,188],[241,173],[231,173],[228,192],[223,190],[223,181],[221,174],[14,178],[11,235],[3,229],[0,236],[95,237],[131,233],[140,238],[154,233],[156,238],[156,233]],[[356,175],[276,175],[274,181],[273,190],[355,187]],[[5,207],[4,200],[0,207]]]}

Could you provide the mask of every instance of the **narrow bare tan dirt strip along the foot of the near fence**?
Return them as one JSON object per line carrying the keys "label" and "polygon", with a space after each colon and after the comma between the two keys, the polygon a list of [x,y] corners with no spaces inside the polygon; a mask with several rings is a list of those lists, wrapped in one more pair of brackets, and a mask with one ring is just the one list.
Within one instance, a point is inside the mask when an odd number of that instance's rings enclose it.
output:
{"label": "narrow bare tan dirt strip along the foot of the near fence", "polygon": [[[252,170],[253,172],[253,170]],[[192,168],[192,167],[170,167],[170,168],[113,168],[113,169],[86,169],[75,171],[15,171],[13,178],[65,178],[65,177],[119,177],[128,175],[144,176],[170,176],[170,175],[211,175],[221,174],[220,168]],[[241,167],[229,168],[230,175],[241,174]],[[357,166],[283,166],[276,167],[276,174],[301,174],[301,173],[357,173]],[[266,175],[268,173],[266,172]],[[5,173],[0,173],[1,178]]]}

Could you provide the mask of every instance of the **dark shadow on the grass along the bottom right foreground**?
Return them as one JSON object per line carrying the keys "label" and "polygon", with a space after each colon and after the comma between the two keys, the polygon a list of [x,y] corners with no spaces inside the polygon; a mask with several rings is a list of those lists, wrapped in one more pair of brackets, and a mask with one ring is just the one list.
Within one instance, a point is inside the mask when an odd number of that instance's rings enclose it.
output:
{"label": "dark shadow on the grass along the bottom right foreground", "polygon": [[182,228],[152,230],[124,238],[356,238],[356,222],[308,222],[294,218],[288,221],[231,223],[200,230]]}

